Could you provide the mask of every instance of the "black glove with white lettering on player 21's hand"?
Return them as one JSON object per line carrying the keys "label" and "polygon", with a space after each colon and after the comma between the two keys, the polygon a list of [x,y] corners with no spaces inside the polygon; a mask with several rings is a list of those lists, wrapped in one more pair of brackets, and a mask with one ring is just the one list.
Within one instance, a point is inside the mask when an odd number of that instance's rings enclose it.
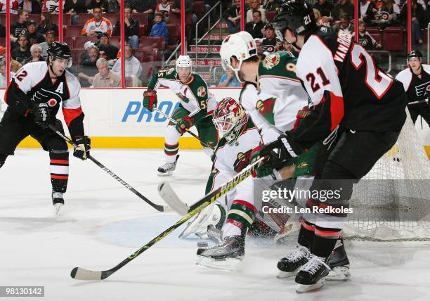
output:
{"label": "black glove with white lettering on player 21's hand", "polygon": [[290,165],[291,159],[299,156],[302,151],[303,148],[299,146],[299,143],[295,142],[288,133],[285,133],[264,146],[260,155],[268,156],[268,165],[279,170]]}

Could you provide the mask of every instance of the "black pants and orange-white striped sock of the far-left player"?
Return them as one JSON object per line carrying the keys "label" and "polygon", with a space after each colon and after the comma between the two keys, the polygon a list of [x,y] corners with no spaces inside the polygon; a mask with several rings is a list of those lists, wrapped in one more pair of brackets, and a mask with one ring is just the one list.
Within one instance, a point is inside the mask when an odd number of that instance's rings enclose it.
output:
{"label": "black pants and orange-white striped sock of the far-left player", "polygon": [[[51,123],[64,133],[60,120],[53,119]],[[27,136],[32,136],[49,152],[52,190],[64,193],[69,178],[69,151],[67,143],[51,129],[42,129],[30,118],[6,110],[0,122],[0,158],[6,160],[13,155]]]}

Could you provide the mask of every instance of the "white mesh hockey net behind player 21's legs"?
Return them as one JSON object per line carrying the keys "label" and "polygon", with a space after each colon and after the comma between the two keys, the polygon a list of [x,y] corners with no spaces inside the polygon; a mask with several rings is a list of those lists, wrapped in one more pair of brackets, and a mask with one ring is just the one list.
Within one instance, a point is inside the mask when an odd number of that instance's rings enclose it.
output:
{"label": "white mesh hockey net behind player 21's legs", "polygon": [[430,164],[410,119],[397,143],[353,188],[344,237],[430,241]]}

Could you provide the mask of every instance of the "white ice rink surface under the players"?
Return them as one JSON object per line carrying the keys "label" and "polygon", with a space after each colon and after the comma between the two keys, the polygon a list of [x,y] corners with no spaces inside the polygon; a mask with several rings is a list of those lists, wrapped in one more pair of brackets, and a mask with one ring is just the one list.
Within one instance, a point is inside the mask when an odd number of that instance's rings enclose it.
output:
{"label": "white ice rink surface under the players", "polygon": [[[91,154],[159,204],[160,181],[195,203],[211,168],[202,151],[181,151],[175,175],[164,178],[157,177],[161,150]],[[276,246],[248,237],[245,260],[229,273],[197,267],[197,239],[179,240],[182,227],[106,280],[77,281],[70,278],[73,267],[110,269],[179,217],[157,212],[93,162],[72,155],[65,202],[55,216],[48,153],[20,149],[8,158],[0,169],[0,286],[45,286],[41,299],[58,301],[430,300],[430,242],[347,242],[351,280],[298,295],[293,280],[275,278],[294,239]]]}

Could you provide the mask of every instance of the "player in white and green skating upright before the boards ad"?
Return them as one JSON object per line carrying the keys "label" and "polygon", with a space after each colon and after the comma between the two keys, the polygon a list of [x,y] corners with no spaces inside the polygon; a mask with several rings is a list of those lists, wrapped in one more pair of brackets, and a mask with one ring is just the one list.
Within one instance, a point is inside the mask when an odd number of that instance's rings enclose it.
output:
{"label": "player in white and green skating upright before the boards ad", "polygon": [[[209,95],[207,84],[197,73],[192,72],[192,61],[189,56],[179,56],[176,68],[160,70],[152,76],[148,89],[143,93],[143,106],[152,111],[157,106],[157,88],[169,87],[180,102],[172,118],[178,123],[167,126],[164,137],[164,154],[166,163],[158,168],[159,176],[171,175],[176,169],[179,158],[179,138],[193,125],[197,128],[200,139],[210,146],[216,146],[218,137],[211,120],[214,108],[214,96]],[[202,145],[203,146],[203,145]],[[203,146],[211,154],[210,148]]]}

